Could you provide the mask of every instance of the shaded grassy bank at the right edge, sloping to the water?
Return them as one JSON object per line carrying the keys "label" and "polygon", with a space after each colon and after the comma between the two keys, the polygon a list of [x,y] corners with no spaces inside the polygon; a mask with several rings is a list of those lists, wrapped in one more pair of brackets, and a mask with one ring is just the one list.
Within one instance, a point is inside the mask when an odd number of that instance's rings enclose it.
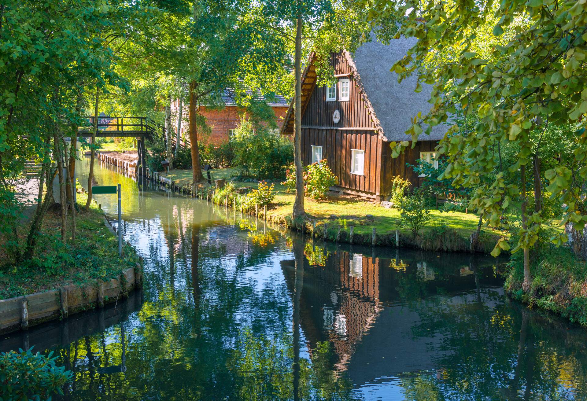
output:
{"label": "shaded grassy bank at the right edge, sloping to the water", "polygon": [[531,308],[555,312],[587,327],[587,262],[568,248],[545,247],[530,253],[532,285],[524,291],[522,252],[510,259],[505,290]]}

